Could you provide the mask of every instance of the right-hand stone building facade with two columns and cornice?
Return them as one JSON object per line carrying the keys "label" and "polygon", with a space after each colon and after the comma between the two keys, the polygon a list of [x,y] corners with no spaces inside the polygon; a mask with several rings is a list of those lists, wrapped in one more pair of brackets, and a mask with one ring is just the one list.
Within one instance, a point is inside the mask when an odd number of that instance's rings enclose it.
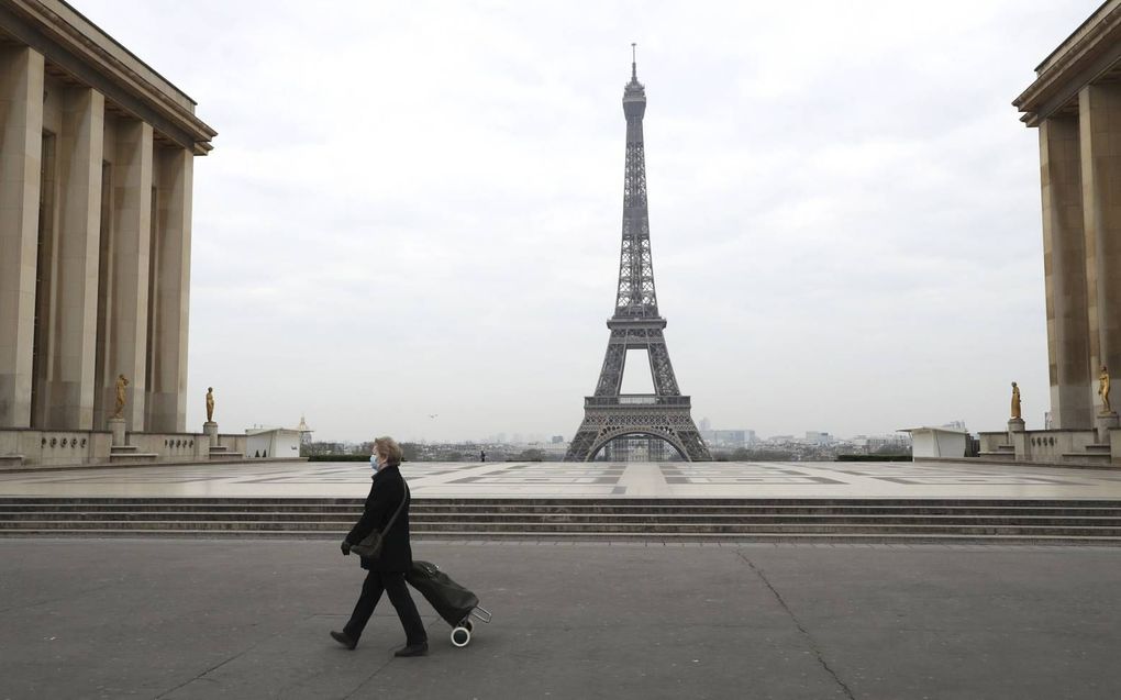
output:
{"label": "right-hand stone building facade with two columns and cornice", "polygon": [[1036,68],[1013,104],[1039,130],[1051,426],[1091,429],[1121,370],[1121,0]]}

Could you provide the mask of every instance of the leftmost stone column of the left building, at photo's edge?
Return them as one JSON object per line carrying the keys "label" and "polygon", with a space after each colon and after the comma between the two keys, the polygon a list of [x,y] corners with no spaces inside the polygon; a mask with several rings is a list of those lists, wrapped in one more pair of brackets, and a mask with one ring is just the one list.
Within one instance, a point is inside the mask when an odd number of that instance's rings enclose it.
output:
{"label": "leftmost stone column of the left building, at photo's edge", "polygon": [[0,428],[31,424],[43,55],[0,45]]}

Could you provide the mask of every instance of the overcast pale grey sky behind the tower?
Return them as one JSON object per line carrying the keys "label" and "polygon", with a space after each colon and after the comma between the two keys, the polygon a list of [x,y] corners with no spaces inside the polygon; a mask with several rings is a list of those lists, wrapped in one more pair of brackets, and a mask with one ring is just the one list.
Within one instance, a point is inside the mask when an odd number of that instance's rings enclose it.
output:
{"label": "overcast pale grey sky behind the tower", "polygon": [[631,41],[696,420],[999,430],[1015,380],[1043,427],[1038,141],[1010,102],[1097,0],[72,1],[219,131],[192,428],[213,385],[229,432],[571,438],[614,304]]}

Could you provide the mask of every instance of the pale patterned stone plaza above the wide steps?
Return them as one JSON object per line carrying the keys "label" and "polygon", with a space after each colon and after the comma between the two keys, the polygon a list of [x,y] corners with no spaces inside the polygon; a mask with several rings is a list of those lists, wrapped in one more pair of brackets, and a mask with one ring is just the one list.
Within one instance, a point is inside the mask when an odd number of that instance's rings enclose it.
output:
{"label": "pale patterned stone plaza above the wide steps", "polygon": [[[406,463],[413,494],[460,498],[1121,498],[1121,470],[967,463]],[[0,473],[0,496],[361,497],[365,463]]]}

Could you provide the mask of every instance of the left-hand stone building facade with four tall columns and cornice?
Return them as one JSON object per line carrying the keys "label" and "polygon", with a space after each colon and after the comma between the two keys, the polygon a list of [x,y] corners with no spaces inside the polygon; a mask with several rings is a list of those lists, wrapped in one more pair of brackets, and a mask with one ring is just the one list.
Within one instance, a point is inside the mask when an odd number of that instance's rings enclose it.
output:
{"label": "left-hand stone building facade with four tall columns and cornice", "polygon": [[185,430],[193,162],[215,136],[67,3],[0,0],[0,431],[104,431],[120,375],[128,431]]}

